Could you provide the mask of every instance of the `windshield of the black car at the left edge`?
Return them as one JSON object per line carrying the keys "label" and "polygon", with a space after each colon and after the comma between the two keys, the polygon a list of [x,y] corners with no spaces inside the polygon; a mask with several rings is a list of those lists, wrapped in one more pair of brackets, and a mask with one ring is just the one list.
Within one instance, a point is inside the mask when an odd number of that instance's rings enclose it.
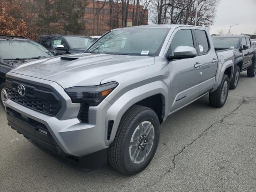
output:
{"label": "windshield of the black car at the left edge", "polygon": [[0,40],[0,57],[3,59],[50,57],[49,50],[34,41]]}

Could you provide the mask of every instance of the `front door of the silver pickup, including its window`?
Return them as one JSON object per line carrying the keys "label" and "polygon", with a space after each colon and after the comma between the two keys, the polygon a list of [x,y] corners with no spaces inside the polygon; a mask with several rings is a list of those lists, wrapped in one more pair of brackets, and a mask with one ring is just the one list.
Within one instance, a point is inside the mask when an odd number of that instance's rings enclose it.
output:
{"label": "front door of the silver pickup, including its window", "polygon": [[[172,38],[173,37],[173,38]],[[172,35],[167,55],[174,55],[178,46],[195,47],[192,30],[180,29]],[[170,74],[170,113],[178,110],[198,97],[200,70],[195,68],[200,64],[198,57],[170,60],[168,64]]]}

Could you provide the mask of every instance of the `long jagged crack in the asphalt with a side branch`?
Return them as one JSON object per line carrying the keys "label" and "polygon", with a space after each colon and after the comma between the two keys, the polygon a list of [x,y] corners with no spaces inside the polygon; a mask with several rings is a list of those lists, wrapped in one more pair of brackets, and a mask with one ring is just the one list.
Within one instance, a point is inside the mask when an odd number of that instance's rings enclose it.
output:
{"label": "long jagged crack in the asphalt with a side branch", "polygon": [[[226,122],[224,122],[224,119],[225,118],[228,118],[229,116],[231,116],[232,114],[234,114],[234,112],[236,110],[238,110],[244,103],[246,102],[245,100],[245,97],[243,97],[240,101],[239,101],[239,105],[234,109],[232,110],[231,112],[229,112],[229,114],[226,114],[223,116],[223,118],[221,120],[219,120],[218,122],[214,122],[213,124],[211,124],[208,128],[206,128],[197,138],[195,138],[192,142],[190,142],[189,144],[187,144],[186,146],[184,146],[177,154],[175,154],[173,157],[172,157],[172,164],[173,166],[169,168],[169,170],[167,172],[165,172],[164,174],[160,175],[159,178],[157,180],[155,180],[152,184],[148,185],[148,187],[151,187],[151,186],[154,186],[158,181],[160,181],[166,174],[168,174],[169,172],[171,172],[172,169],[176,168],[176,162],[175,162],[175,159],[176,157],[181,154],[188,146],[194,144],[194,142],[196,140],[198,140],[200,137],[206,135],[206,132],[212,128],[212,126],[214,126],[215,124],[225,124]],[[232,125],[232,124],[230,124]],[[238,124],[234,124],[234,125],[238,125]],[[251,126],[251,125],[244,125],[244,126]],[[254,126],[253,126],[254,127]],[[255,126],[256,127],[256,126]],[[145,186],[142,186],[140,188],[140,190],[138,191],[141,191]]]}

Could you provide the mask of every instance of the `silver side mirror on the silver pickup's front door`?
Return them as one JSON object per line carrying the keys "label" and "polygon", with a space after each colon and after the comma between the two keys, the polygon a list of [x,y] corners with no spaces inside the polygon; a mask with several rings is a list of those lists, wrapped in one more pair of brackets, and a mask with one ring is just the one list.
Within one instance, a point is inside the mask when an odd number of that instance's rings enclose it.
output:
{"label": "silver side mirror on the silver pickup's front door", "polygon": [[196,49],[190,46],[178,46],[174,50],[174,56],[168,56],[168,60],[172,59],[186,59],[186,58],[193,58],[196,56]]}

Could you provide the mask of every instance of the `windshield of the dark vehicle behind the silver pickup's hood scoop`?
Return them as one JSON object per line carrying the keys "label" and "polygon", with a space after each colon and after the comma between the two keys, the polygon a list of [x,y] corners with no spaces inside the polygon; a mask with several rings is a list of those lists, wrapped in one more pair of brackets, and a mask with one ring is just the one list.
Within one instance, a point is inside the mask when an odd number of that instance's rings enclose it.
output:
{"label": "windshield of the dark vehicle behind the silver pickup's hood scoop", "polygon": [[66,41],[71,49],[86,49],[94,43],[94,39],[89,37],[65,36]]}

